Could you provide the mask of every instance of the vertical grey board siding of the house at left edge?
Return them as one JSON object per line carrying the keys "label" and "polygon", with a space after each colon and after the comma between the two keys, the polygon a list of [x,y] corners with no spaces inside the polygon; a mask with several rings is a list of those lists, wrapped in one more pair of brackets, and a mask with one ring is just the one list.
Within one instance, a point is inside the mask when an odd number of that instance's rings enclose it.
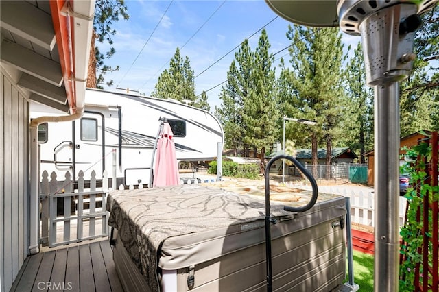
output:
{"label": "vertical grey board siding of the house at left edge", "polygon": [[9,291],[27,257],[29,101],[1,67],[0,75],[0,276]]}

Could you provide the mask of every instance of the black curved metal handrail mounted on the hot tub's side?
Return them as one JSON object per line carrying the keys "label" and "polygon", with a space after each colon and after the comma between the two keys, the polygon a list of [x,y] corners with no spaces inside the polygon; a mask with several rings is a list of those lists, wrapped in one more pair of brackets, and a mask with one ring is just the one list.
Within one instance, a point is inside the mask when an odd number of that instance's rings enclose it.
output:
{"label": "black curved metal handrail mounted on the hot tub's side", "polygon": [[311,209],[314,204],[316,204],[317,197],[318,197],[318,187],[316,180],[313,178],[311,173],[303,167],[296,158],[292,156],[287,156],[285,154],[279,154],[274,156],[270,161],[268,162],[267,166],[265,167],[265,256],[266,256],[266,265],[267,265],[267,291],[272,292],[273,286],[272,286],[272,236],[271,236],[271,224],[276,224],[276,219],[273,219],[270,216],[270,167],[274,163],[274,161],[279,159],[287,159],[299,169],[299,171],[305,175],[305,177],[311,182],[312,186],[312,196],[309,203],[305,206],[301,207],[292,207],[292,206],[283,206],[283,210],[289,211],[289,212],[305,212],[309,209]]}

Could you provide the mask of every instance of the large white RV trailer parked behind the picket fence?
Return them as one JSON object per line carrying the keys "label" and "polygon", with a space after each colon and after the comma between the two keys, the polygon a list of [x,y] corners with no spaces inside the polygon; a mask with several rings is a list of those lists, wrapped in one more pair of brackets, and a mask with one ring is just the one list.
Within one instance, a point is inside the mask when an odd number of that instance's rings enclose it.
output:
{"label": "large white RV trailer parked behind the picket fence", "polygon": [[[172,99],[88,88],[85,104],[81,119],[38,128],[41,173],[55,171],[59,180],[71,171],[73,181],[79,171],[84,171],[84,178],[93,170],[99,175],[106,169],[111,175],[116,149],[117,186],[148,184],[161,118],[174,132],[179,162],[214,160],[218,143],[224,142],[222,126],[213,114]],[[60,112],[32,103],[31,118],[43,115]]]}

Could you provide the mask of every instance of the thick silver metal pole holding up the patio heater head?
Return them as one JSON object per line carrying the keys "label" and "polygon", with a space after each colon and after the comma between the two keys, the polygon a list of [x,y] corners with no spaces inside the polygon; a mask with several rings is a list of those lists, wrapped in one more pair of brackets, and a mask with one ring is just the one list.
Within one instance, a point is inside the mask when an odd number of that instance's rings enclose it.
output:
{"label": "thick silver metal pole holding up the patio heater head", "polygon": [[399,84],[375,86],[374,291],[399,287]]}

